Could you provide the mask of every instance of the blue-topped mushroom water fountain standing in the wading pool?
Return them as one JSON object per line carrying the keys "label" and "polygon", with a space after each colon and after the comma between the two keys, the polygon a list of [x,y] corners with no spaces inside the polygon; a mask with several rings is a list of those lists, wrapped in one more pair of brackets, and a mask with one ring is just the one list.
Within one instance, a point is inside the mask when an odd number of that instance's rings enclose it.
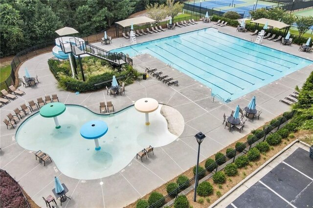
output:
{"label": "blue-topped mushroom water fountain standing in the wading pool", "polygon": [[99,151],[99,138],[108,132],[108,125],[104,121],[89,121],[82,125],[80,128],[80,135],[85,139],[93,139],[95,144],[95,150]]}

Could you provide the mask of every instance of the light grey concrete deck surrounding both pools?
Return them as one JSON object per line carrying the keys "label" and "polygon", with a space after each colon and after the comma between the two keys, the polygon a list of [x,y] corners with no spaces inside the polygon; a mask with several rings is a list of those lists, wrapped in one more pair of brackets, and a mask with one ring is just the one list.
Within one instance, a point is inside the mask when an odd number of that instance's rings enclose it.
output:
{"label": "light grey concrete deck surrounding both pools", "polygon": [[[213,27],[213,23],[199,22],[197,25],[177,28],[173,31],[137,37],[137,43],[209,26]],[[250,36],[249,32],[236,32],[236,28],[233,27],[218,28],[221,32],[246,40],[256,38],[256,36]],[[267,40],[263,44],[303,58],[313,59],[312,54],[299,52],[298,45],[284,46],[279,42],[269,42]],[[124,38],[119,38],[113,39],[111,45],[101,46],[100,42],[94,43],[94,45],[111,50],[122,45],[130,45],[130,42]],[[217,100],[212,102],[213,98],[209,88],[180,73],[175,68],[168,67],[167,63],[161,62],[148,54],[134,57],[134,67],[142,72],[145,66],[156,67],[164,74],[179,80],[178,86],[167,86],[157,81],[156,78],[150,77],[148,80],[139,80],[126,86],[126,94],[116,96],[116,98],[105,95],[105,89],[75,95],[75,93],[57,88],[57,81],[47,65],[47,60],[52,57],[52,52],[46,53],[27,60],[21,65],[21,69],[27,67],[31,76],[37,74],[40,83],[34,88],[20,86],[20,89],[25,91],[26,94],[0,108],[1,120],[6,117],[7,113],[12,113],[14,108],[25,104],[29,100],[36,101],[38,97],[44,98],[45,95],[56,93],[62,103],[80,104],[97,113],[99,112],[99,102],[102,101],[112,101],[115,111],[117,111],[133,104],[134,101],[140,98],[151,97],[159,103],[176,108],[183,116],[185,126],[179,139],[167,146],[155,148],[155,154],[148,160],[144,160],[143,163],[136,159],[134,155],[132,162],[114,175],[97,180],[77,180],[62,174],[53,162],[47,162],[44,166],[36,161],[35,155],[31,151],[23,149],[16,143],[15,130],[7,130],[6,125],[2,123],[0,126],[0,147],[2,148],[0,151],[0,168],[15,177],[40,207],[45,207],[42,196],[53,195],[51,190],[54,188],[54,176],[59,176],[60,181],[66,184],[69,189],[67,196],[71,200],[64,202],[62,207],[117,208],[133,203],[136,199],[141,198],[196,164],[198,146],[194,138],[196,133],[201,131],[207,137],[201,145],[200,160],[202,161],[225,146],[244,137],[251,129],[256,129],[284,111],[289,110],[290,106],[279,102],[279,100],[291,94],[295,85],[302,86],[302,83],[313,71],[313,65],[307,66],[228,104],[223,104]],[[24,70],[20,70],[19,76],[22,77],[23,75]],[[222,125],[223,114],[230,114],[237,104],[242,107],[246,106],[254,95],[257,98],[257,109],[263,111],[260,120],[247,121],[242,133],[238,131],[229,132],[224,129],[224,125]],[[22,121],[18,122],[18,125]],[[60,207],[59,200],[57,200],[57,204]]]}

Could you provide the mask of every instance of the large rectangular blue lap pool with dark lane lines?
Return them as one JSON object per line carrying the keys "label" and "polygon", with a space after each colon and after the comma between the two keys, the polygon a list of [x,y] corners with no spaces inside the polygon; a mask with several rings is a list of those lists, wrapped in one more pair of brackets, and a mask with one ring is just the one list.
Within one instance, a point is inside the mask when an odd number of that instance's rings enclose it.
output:
{"label": "large rectangular blue lap pool with dark lane lines", "polygon": [[[286,46],[287,47],[287,46]],[[206,28],[177,36],[118,48],[130,56],[149,53],[234,100],[312,61]],[[166,74],[166,71],[163,71]],[[178,79],[179,80],[179,79]]]}

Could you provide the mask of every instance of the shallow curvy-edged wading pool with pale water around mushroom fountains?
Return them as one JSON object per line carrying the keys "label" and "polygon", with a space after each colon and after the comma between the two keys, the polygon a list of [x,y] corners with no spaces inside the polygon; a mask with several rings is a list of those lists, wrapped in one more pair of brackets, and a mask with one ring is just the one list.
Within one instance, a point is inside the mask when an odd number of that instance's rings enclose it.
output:
{"label": "shallow curvy-edged wading pool with pale water around mushroom fountains", "polygon": [[[55,128],[52,118],[36,113],[18,128],[16,141],[25,149],[47,153],[59,170],[72,178],[90,180],[110,176],[127,166],[143,148],[165,146],[178,138],[168,131],[160,113],[162,105],[150,113],[148,126],[145,114],[134,106],[111,115],[95,114],[79,105],[66,107],[58,116],[61,128]],[[105,121],[109,127],[107,134],[99,139],[99,151],[94,150],[92,140],[80,135],[80,127],[91,120]]]}

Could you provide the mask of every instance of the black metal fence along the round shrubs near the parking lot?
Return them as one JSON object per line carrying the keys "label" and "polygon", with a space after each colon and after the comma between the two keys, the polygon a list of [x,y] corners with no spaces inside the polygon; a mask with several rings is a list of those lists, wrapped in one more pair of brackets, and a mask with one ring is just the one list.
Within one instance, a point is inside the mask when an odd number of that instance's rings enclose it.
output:
{"label": "black metal fence along the round shrubs near the parking lot", "polygon": [[[265,141],[267,135],[276,132],[281,125],[288,122],[294,114],[294,111],[291,111],[289,114],[285,115],[284,117],[281,117],[278,119],[274,124],[268,125],[263,131],[259,132],[255,135],[255,141],[249,141],[242,144],[242,146],[237,147],[234,149],[234,152],[229,152],[224,157],[217,160],[214,164],[211,166],[206,167],[203,171],[198,173],[198,184],[202,183],[203,181],[206,181],[214,175],[214,173],[224,169],[224,167],[228,164],[233,163],[238,157],[245,155],[249,149],[256,146],[258,143]],[[235,153],[235,156],[233,154]],[[222,161],[226,161],[225,163],[218,165],[219,162],[222,163]],[[213,171],[209,171],[209,169],[214,169]],[[164,196],[162,199],[157,201],[156,203],[149,206],[149,208],[160,208],[162,206],[171,206],[174,204],[175,199],[179,195],[186,195],[187,193],[191,192],[195,189],[195,182],[196,177],[194,176],[186,183],[180,185],[176,190],[172,191],[168,195]],[[186,188],[185,188],[186,187]]]}

